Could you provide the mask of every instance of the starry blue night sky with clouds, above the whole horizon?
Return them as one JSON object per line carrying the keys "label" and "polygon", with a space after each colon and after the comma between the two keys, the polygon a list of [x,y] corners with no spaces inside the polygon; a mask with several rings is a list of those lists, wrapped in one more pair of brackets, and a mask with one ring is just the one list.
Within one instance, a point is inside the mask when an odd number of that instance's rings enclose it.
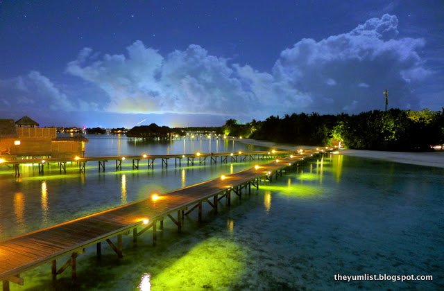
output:
{"label": "starry blue night sky with clouds, above the whole horizon", "polygon": [[444,1],[2,1],[0,118],[222,125],[444,106]]}

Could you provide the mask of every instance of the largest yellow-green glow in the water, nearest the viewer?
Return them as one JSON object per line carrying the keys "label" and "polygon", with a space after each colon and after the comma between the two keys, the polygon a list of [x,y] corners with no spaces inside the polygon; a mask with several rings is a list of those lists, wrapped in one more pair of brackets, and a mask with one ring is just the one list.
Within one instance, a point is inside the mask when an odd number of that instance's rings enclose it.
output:
{"label": "largest yellow-green glow in the water, nearest the viewer", "polygon": [[226,290],[245,273],[245,260],[239,245],[223,238],[209,238],[159,274],[151,273],[151,287],[152,290],[179,290],[184,286],[192,290]]}

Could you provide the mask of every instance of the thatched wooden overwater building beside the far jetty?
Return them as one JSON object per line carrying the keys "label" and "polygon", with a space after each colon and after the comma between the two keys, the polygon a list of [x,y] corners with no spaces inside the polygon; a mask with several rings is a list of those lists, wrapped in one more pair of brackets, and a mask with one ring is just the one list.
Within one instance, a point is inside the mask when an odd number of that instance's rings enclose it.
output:
{"label": "thatched wooden overwater building beside the far jetty", "polygon": [[57,137],[56,127],[36,127],[28,116],[17,122],[0,119],[0,155],[14,157],[82,157],[84,136]]}

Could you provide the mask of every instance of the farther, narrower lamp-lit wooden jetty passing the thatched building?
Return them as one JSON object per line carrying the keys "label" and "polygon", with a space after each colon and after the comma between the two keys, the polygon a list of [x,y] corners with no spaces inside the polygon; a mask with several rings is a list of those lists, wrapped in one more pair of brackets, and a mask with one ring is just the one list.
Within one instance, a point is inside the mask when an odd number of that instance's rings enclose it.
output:
{"label": "farther, narrower lamp-lit wooden jetty passing the thatched building", "polygon": [[72,157],[72,158],[44,158],[44,159],[11,159],[6,161],[0,160],[1,165],[12,166],[15,170],[15,176],[20,176],[20,165],[25,164],[37,164],[39,169],[39,174],[44,175],[44,166],[49,166],[49,164],[58,164],[60,173],[67,173],[67,163],[75,163],[78,165],[78,170],[80,173],[85,173],[86,164],[97,162],[99,172],[105,172],[105,163],[108,161],[115,161],[115,170],[121,170],[122,163],[124,161],[132,161],[133,170],[138,170],[141,161],[146,161],[148,169],[154,168],[155,161],[161,161],[162,168],[169,166],[169,160],[174,159],[174,166],[180,167],[182,164],[187,164],[187,166],[194,166],[194,164],[205,165],[207,161],[210,164],[217,164],[218,159],[220,163],[229,162],[242,162],[242,161],[255,161],[264,159],[274,159],[275,157],[280,157],[282,155],[289,155],[291,152],[289,150],[271,150],[271,151],[254,151],[254,152],[211,152],[211,153],[200,153],[196,152],[194,154],[185,155],[119,155],[110,157]]}

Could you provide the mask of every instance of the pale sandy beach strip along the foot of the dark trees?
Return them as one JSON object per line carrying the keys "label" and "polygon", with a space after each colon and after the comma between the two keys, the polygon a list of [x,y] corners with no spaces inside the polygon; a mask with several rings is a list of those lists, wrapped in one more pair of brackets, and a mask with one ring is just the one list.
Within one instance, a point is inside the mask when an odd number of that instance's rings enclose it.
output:
{"label": "pale sandy beach strip along the foot of the dark trees", "polygon": [[[257,141],[255,139],[235,139],[241,143],[266,146],[282,150],[295,150],[298,148],[316,148],[307,145],[288,145],[273,143],[271,141]],[[341,155],[353,157],[365,157],[370,159],[384,159],[402,164],[412,164],[419,166],[430,166],[444,168],[444,151],[436,152],[383,152],[379,150],[339,150]]]}

